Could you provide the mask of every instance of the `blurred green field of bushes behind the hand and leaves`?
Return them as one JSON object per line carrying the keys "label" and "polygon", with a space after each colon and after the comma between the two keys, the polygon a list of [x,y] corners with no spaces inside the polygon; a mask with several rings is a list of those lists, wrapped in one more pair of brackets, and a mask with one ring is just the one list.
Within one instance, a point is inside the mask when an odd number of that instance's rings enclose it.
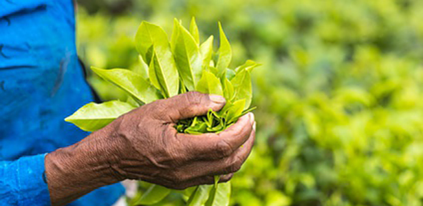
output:
{"label": "blurred green field of bushes behind the hand and leaves", "polygon": [[[257,141],[231,205],[423,205],[423,1],[81,1],[79,54],[87,66],[137,67],[141,21],[170,34],[174,17],[192,16],[202,41],[222,22],[232,67],[263,64]],[[103,100],[126,100],[89,82]]]}

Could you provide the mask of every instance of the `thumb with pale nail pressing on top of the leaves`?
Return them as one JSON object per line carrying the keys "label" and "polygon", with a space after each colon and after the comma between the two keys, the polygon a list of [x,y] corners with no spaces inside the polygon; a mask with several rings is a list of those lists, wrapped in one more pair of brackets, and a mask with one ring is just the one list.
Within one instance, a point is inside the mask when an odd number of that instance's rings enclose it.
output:
{"label": "thumb with pale nail pressing on top of the leaves", "polygon": [[155,102],[161,117],[166,122],[177,122],[179,119],[187,119],[191,117],[207,114],[211,108],[213,111],[219,111],[225,106],[226,100],[220,95],[209,95],[190,91],[181,95],[176,95],[166,100]]}

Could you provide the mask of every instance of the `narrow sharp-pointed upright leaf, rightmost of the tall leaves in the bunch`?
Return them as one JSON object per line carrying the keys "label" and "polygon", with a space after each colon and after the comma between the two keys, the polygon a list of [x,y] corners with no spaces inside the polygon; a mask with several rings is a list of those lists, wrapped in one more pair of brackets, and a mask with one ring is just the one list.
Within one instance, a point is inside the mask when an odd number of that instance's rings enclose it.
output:
{"label": "narrow sharp-pointed upright leaf, rightmost of the tall leaves in the bunch", "polygon": [[229,44],[228,39],[226,38],[225,32],[223,32],[222,24],[219,22],[219,36],[220,36],[220,47],[219,47],[219,58],[216,68],[218,69],[218,78],[223,78],[226,76],[226,69],[229,67],[232,59],[232,49]]}

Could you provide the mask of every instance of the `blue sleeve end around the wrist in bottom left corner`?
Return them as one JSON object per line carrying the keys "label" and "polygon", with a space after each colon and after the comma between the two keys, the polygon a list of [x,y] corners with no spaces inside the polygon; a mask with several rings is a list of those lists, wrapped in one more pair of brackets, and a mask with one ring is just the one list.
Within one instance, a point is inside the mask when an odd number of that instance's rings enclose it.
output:
{"label": "blue sleeve end around the wrist in bottom left corner", "polygon": [[45,155],[0,161],[0,205],[50,205]]}

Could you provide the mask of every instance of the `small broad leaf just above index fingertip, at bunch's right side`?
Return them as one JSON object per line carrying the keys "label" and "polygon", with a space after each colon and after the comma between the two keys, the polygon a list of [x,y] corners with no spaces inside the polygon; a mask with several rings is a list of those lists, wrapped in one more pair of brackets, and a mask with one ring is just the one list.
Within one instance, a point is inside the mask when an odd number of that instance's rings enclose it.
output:
{"label": "small broad leaf just above index fingertip, at bunch's right side", "polygon": [[245,99],[244,109],[249,108],[253,97],[250,72],[247,69],[242,69],[242,71],[236,73],[231,83],[234,91],[233,100]]}

